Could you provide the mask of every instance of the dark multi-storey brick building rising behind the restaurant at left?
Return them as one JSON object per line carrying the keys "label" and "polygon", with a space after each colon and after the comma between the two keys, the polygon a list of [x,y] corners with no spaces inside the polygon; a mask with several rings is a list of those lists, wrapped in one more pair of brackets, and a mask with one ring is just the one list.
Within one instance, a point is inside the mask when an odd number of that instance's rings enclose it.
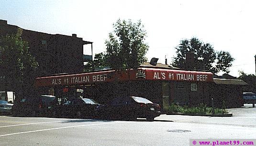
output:
{"label": "dark multi-storey brick building rising behind the restaurant at left", "polygon": [[29,43],[29,50],[39,64],[38,76],[82,72],[85,56],[91,57],[83,55],[83,45],[91,44],[92,48],[92,42],[83,41],[76,34],[67,36],[30,31],[0,20],[0,36],[6,34],[18,34]]}

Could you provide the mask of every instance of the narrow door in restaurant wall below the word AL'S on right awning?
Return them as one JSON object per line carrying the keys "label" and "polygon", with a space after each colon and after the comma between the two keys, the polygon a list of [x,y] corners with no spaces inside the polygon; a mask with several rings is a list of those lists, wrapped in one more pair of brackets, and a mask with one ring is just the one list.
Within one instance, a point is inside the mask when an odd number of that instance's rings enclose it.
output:
{"label": "narrow door in restaurant wall below the word AL'S on right awning", "polygon": [[170,105],[170,83],[162,83],[163,109],[168,110]]}

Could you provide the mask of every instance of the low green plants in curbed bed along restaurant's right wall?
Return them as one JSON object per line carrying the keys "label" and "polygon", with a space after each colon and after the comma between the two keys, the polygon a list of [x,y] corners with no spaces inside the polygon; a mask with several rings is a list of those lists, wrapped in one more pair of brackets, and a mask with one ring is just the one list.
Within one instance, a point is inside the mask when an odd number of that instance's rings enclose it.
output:
{"label": "low green plants in curbed bed along restaurant's right wall", "polygon": [[[174,103],[170,104],[169,112],[171,113],[186,113],[186,114],[211,114],[212,107],[207,107],[206,104],[199,104],[198,107],[188,107],[188,106],[179,106]],[[227,114],[228,111],[226,109],[214,109],[215,114]]]}

